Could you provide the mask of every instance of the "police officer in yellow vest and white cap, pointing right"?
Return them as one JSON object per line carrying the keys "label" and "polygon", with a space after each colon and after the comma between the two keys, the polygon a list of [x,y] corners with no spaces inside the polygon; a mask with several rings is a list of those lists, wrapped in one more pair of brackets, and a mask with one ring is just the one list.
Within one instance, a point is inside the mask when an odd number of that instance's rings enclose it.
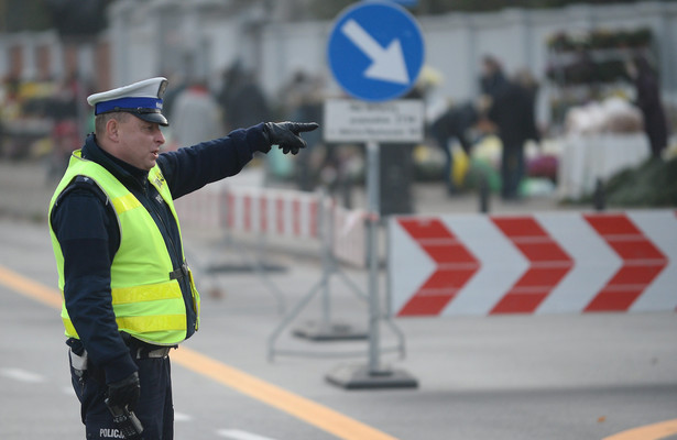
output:
{"label": "police officer in yellow vest and white cap, pointing right", "polygon": [[121,438],[113,410],[135,413],[145,440],[172,439],[170,349],[199,327],[173,199],[239,173],[255,152],[296,154],[316,123],[260,123],[161,153],[167,81],[95,94],[96,130],[50,204],[73,386],[87,439]]}

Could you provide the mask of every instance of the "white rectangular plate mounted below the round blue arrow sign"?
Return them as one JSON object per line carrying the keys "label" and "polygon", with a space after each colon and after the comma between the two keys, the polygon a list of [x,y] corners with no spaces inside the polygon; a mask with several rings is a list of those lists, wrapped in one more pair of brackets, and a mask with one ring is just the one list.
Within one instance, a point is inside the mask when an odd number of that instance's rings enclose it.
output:
{"label": "white rectangular plate mounted below the round blue arrow sign", "polygon": [[401,99],[365,102],[325,101],[327,142],[421,142],[424,139],[423,101]]}

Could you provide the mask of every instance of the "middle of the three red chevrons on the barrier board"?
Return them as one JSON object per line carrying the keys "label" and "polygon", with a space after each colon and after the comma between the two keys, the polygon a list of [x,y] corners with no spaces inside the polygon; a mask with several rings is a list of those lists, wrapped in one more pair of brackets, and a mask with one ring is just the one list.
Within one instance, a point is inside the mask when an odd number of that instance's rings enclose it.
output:
{"label": "middle of the three red chevrons on the barrier board", "polygon": [[528,260],[529,268],[490,314],[531,314],[571,270],[571,257],[532,217],[492,218]]}

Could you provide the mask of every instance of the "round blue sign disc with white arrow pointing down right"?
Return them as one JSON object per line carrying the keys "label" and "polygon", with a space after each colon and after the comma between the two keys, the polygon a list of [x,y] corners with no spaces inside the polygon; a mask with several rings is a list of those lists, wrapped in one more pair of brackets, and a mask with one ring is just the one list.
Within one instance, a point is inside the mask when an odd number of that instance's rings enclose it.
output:
{"label": "round blue sign disc with white arrow pointing down right", "polygon": [[392,2],[364,1],[336,20],[327,47],[329,67],[350,96],[385,101],[406,94],[424,62],[416,20]]}

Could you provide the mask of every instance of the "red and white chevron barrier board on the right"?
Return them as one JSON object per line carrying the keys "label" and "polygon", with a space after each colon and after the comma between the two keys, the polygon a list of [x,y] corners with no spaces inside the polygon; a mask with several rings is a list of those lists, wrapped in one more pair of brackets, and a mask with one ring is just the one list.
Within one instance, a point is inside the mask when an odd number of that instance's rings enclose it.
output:
{"label": "red and white chevron barrier board on the right", "polygon": [[395,316],[677,309],[677,211],[394,217]]}

